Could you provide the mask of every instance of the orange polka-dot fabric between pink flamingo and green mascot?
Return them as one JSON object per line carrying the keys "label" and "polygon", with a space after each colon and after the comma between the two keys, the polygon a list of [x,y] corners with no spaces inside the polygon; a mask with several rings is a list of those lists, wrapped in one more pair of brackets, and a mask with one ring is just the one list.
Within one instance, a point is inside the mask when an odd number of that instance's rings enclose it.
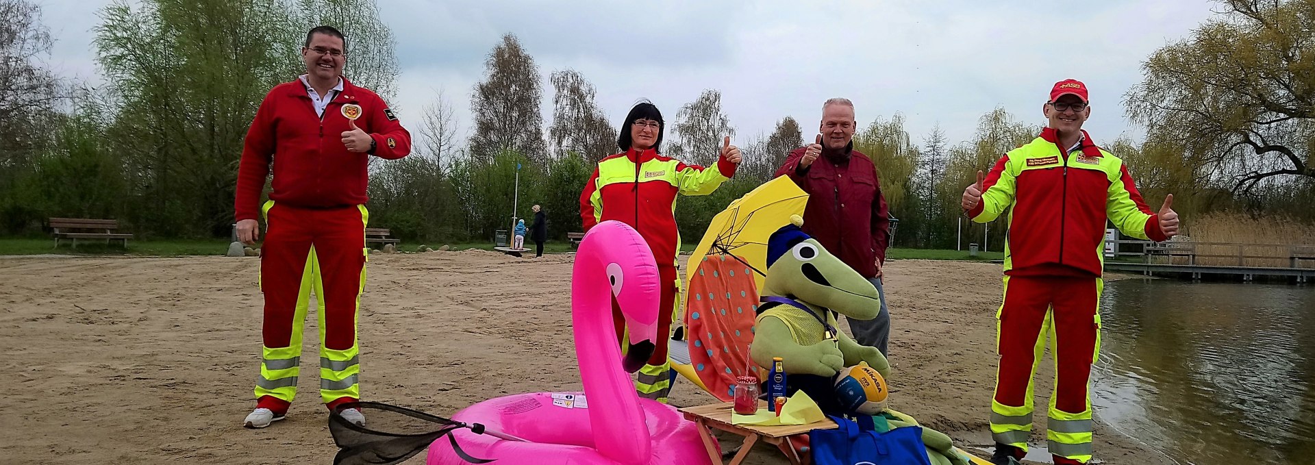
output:
{"label": "orange polka-dot fabric between pink flamingo and green mascot", "polygon": [[698,263],[685,298],[690,365],[709,393],[723,402],[735,398],[735,378],[752,364],[748,349],[759,305],[752,273],[732,256],[707,255]]}

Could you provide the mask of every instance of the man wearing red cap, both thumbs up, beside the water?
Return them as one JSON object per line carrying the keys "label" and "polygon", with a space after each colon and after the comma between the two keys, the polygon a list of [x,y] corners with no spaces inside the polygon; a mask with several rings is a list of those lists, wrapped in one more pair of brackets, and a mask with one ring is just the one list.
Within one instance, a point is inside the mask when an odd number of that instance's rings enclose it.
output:
{"label": "man wearing red cap, both thumbs up, beside the water", "polygon": [[1052,335],[1056,385],[1047,420],[1055,464],[1091,460],[1088,382],[1101,347],[1098,302],[1103,281],[1106,219],[1123,234],[1166,240],[1178,214],[1164,200],[1151,211],[1123,160],[1097,147],[1082,130],[1091,114],[1086,85],[1055,84],[1043,106],[1049,126],[1032,142],[995,162],[964,189],[963,208],[974,222],[1009,210],[1005,302],[998,319],[999,369],[992,402],[993,464],[1016,464],[1032,430],[1032,376]]}

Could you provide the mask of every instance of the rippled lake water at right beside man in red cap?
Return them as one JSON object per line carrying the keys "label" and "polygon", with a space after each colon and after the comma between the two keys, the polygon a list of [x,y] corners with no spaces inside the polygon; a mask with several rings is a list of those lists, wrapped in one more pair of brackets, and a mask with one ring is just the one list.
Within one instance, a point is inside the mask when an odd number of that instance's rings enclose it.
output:
{"label": "rippled lake water at right beside man in red cap", "polygon": [[1315,464],[1315,286],[1124,280],[1101,318],[1099,419],[1180,464]]}

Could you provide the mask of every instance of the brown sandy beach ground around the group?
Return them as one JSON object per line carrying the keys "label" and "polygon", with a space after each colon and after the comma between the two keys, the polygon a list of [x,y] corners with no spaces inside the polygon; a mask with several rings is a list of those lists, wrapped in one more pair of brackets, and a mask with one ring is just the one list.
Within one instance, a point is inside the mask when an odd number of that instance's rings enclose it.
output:
{"label": "brown sandy beach ground around the group", "polygon": [[[567,326],[571,259],[372,255],[360,313],[364,398],[450,415],[509,393],[579,390]],[[899,260],[886,275],[893,407],[960,447],[989,444],[999,267]],[[258,276],[256,257],[0,260],[0,349],[11,380],[0,397],[4,462],[331,462],[314,340],[288,419],[241,426],[259,369]],[[1049,393],[1052,378],[1039,373],[1038,393]],[[684,380],[671,398],[713,401]],[[1105,464],[1164,460],[1097,420]],[[1032,443],[1044,444],[1044,431]],[[747,464],[785,460],[761,447]]]}

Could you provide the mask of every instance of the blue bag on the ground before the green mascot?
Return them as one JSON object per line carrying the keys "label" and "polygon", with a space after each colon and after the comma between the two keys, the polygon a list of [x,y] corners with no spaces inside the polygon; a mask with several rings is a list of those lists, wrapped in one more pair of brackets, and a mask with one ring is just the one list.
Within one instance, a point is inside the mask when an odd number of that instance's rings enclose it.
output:
{"label": "blue bag on the ground before the green mascot", "polygon": [[859,423],[840,416],[831,419],[839,430],[809,432],[815,465],[931,465],[920,427],[878,432],[872,416],[861,415]]}

